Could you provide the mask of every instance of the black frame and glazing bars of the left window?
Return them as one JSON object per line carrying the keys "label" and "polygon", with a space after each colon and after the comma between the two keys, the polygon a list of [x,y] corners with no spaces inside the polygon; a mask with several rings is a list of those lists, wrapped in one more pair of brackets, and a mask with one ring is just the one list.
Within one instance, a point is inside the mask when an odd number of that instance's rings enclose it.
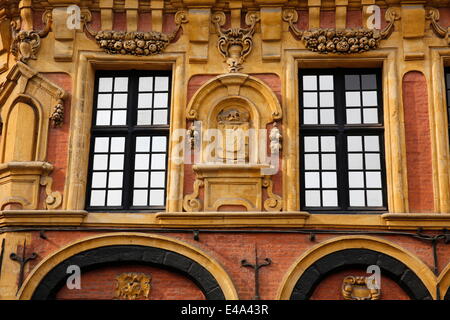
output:
{"label": "black frame and glazing bars of the left window", "polygon": [[[137,125],[137,104],[138,104],[138,86],[139,77],[168,77],[168,106],[167,106],[167,124],[164,125]],[[99,94],[99,79],[101,77],[129,77],[128,81],[128,100],[127,100],[127,124],[126,125],[110,125],[110,126],[96,126],[97,121],[97,103]],[[114,82],[113,82],[114,85]],[[152,84],[155,86],[155,81]],[[168,172],[168,158],[169,158],[169,138],[170,138],[170,118],[171,118],[171,96],[172,96],[172,71],[171,70],[97,70],[95,72],[94,97],[92,108],[92,122],[90,132],[90,151],[89,151],[89,165],[88,178],[86,185],[86,201],[85,208],[90,212],[160,212],[166,210],[167,204],[167,172]],[[114,90],[114,89],[113,89]],[[114,92],[114,91],[113,91]],[[153,113],[152,113],[153,114]],[[153,119],[153,117],[152,117]],[[105,198],[105,206],[91,206],[91,191],[92,191],[92,177],[93,177],[93,160],[94,160],[94,145],[96,137],[114,137],[126,136],[125,152],[124,152],[124,167],[123,167],[123,181],[122,181],[122,204],[121,206],[108,206],[107,198]],[[166,157],[165,157],[165,174],[164,174],[164,205],[163,206],[133,206],[133,189],[134,189],[134,164],[136,156],[136,139],[137,136],[166,136]],[[109,150],[111,143],[109,144]],[[150,155],[153,154],[150,149]],[[150,167],[149,165],[149,172]],[[109,164],[108,164],[109,168]],[[139,170],[136,170],[139,171]],[[150,175],[149,175],[150,176]],[[148,186],[150,190],[150,185]],[[106,190],[109,190],[106,186]]]}

